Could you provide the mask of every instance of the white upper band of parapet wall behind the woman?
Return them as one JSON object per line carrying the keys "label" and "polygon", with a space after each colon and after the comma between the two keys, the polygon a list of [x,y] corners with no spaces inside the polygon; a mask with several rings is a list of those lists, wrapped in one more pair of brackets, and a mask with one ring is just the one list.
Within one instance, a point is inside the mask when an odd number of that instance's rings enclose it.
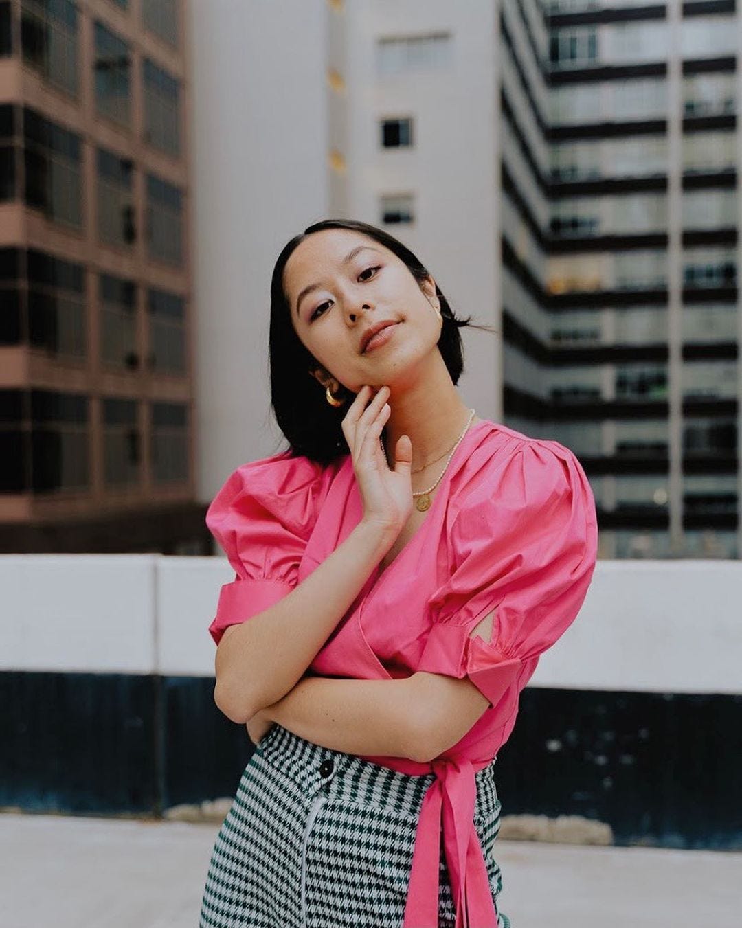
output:
{"label": "white upper band of parapet wall behind the woman", "polygon": [[[214,675],[224,558],[0,556],[0,670]],[[529,686],[742,693],[742,561],[598,561]]]}

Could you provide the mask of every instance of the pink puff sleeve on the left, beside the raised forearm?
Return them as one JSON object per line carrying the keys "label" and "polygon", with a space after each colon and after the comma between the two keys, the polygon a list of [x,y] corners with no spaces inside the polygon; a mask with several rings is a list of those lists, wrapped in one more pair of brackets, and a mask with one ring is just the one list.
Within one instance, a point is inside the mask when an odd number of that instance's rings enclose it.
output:
{"label": "pink puff sleeve on the left, beside the raised forearm", "polygon": [[316,521],[321,471],[291,450],[242,464],[206,510],[206,525],[236,574],[221,587],[209,625],[217,645],[228,625],[262,612],[296,586]]}

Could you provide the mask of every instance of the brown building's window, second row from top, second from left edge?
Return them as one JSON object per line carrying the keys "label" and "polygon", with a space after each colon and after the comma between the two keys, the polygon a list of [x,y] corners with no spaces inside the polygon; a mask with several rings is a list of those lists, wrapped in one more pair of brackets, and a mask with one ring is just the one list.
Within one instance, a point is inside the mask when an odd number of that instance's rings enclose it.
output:
{"label": "brown building's window, second row from top, second from left edge", "polygon": [[83,225],[82,138],[35,110],[23,110],[25,199],[54,222]]}

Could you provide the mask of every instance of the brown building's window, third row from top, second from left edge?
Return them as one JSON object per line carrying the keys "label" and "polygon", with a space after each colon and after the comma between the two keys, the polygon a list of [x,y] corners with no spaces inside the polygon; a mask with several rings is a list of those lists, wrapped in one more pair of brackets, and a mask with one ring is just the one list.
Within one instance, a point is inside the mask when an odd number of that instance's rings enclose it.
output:
{"label": "brown building's window, third row from top, second from left edge", "polygon": [[85,357],[85,272],[44,251],[28,252],[29,342],[51,354]]}

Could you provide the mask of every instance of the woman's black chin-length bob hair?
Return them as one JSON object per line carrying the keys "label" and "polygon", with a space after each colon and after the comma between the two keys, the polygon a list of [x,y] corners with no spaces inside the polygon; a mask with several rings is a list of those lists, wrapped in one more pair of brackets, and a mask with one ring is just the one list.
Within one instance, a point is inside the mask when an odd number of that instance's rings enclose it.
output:
{"label": "woman's black chin-length bob hair", "polygon": [[[311,354],[293,329],[291,306],[284,290],[283,271],[294,249],[305,238],[323,229],[348,229],[359,232],[393,251],[407,265],[418,282],[428,277],[427,268],[397,238],[384,229],[350,219],[325,219],[307,226],[303,233],[294,236],[280,252],[270,282],[270,329],[268,360],[270,365],[271,406],[281,432],[289,442],[294,455],[304,455],[322,465],[350,453],[341,423],[356,393],[341,384],[335,397],[345,400],[343,406],[331,406],[325,389],[311,371],[323,367]],[[443,328],[438,349],[449,370],[451,380],[458,383],[463,370],[462,337],[459,329],[470,326],[494,332],[488,326],[471,322],[472,316],[457,318],[449,302],[436,285],[443,316]]]}

